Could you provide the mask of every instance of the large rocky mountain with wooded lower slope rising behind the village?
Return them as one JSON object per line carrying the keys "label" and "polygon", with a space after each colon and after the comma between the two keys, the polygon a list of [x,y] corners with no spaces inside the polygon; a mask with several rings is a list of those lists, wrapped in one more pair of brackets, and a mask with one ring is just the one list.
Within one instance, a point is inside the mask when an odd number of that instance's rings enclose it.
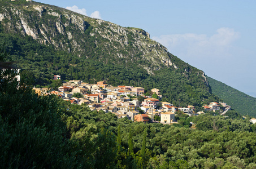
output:
{"label": "large rocky mountain with wooded lower slope rising behind the village", "polygon": [[37,2],[0,1],[0,44],[21,74],[47,86],[62,79],[159,88],[174,105],[218,101],[202,70],[170,54],[138,28]]}

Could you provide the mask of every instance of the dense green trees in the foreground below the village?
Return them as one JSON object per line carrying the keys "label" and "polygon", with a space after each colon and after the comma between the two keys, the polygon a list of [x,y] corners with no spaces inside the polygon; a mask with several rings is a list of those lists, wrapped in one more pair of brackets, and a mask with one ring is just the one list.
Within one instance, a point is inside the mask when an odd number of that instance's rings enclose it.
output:
{"label": "dense green trees in the foreground below the village", "polygon": [[256,126],[238,114],[132,122],[17,88],[14,70],[0,71],[1,168],[256,167]]}

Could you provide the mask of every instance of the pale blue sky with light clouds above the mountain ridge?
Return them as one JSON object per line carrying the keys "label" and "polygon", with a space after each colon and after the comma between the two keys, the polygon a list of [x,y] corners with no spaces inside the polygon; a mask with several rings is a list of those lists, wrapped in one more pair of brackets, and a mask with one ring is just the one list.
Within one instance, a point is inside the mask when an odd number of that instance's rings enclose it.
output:
{"label": "pale blue sky with light clouds above the mountain ridge", "polygon": [[256,97],[254,0],[36,0],[124,27],[150,38],[206,75]]}

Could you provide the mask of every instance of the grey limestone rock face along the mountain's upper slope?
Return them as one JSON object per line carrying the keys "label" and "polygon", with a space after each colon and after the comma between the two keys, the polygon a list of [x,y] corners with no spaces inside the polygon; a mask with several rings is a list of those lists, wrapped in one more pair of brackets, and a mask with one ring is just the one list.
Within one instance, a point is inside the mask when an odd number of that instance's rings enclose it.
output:
{"label": "grey limestone rock face along the mountain's upper slope", "polygon": [[[180,69],[179,59],[160,43],[150,39],[149,33],[139,28],[125,28],[108,21],[93,19],[64,8],[31,2],[23,5],[10,3],[0,8],[0,21],[7,33],[30,35],[57,50],[90,58],[89,50],[103,57],[122,58],[127,63],[139,63],[148,73],[168,67]],[[99,51],[100,50],[100,51]],[[150,63],[145,64],[145,63]],[[182,69],[185,73],[188,70]],[[204,73],[198,70],[207,82]]]}

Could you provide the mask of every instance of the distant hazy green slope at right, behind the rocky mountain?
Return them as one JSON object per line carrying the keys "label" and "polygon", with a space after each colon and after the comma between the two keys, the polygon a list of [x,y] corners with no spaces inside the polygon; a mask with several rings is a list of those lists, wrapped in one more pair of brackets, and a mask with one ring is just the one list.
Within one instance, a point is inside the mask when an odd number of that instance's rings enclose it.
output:
{"label": "distant hazy green slope at right, behind the rocky mountain", "polygon": [[211,86],[212,93],[223,99],[233,109],[236,109],[242,115],[250,115],[255,117],[256,114],[256,98],[244,94],[228,86],[225,83],[216,81],[207,77]]}

